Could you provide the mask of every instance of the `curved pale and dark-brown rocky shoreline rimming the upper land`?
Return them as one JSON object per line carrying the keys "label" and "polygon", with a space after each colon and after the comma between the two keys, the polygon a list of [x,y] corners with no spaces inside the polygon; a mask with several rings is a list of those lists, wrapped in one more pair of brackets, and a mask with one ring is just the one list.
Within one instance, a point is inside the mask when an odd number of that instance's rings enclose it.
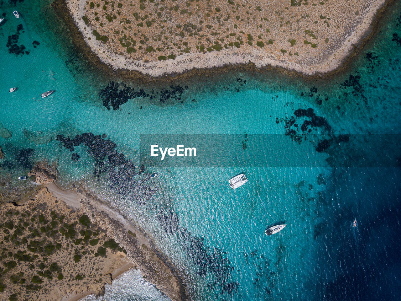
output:
{"label": "curved pale and dark-brown rocky shoreline rimming the upper land", "polygon": [[[356,29],[352,33],[344,37],[346,41],[340,49],[332,53],[332,55],[322,63],[314,64],[313,70],[310,67],[306,69],[296,63],[289,63],[283,60],[274,61],[271,57],[263,56],[257,51],[251,55],[244,54],[241,51],[234,53],[230,53],[230,51],[222,51],[221,53],[211,52],[205,55],[202,53],[188,53],[178,56],[175,60],[143,64],[136,63],[136,66],[132,65],[132,68],[116,68],[116,66],[109,65],[104,59],[101,59],[92,51],[93,45],[91,48],[91,46],[87,44],[87,39],[85,39],[77,25],[79,20],[73,18],[68,3],[68,0],[56,0],[52,5],[57,16],[67,25],[71,33],[73,44],[85,56],[85,59],[97,69],[110,76],[117,75],[122,78],[154,82],[182,80],[194,76],[209,76],[209,74],[233,70],[239,72],[279,71],[282,74],[301,76],[307,79],[329,78],[347,68],[352,57],[356,55],[370,37],[372,37],[377,27],[378,19],[383,15],[383,12],[392,1],[377,0],[373,5],[369,6],[369,11],[364,18],[364,22],[356,26]],[[83,21],[81,20],[81,22]],[[205,63],[205,61],[208,63]],[[138,68],[138,66],[140,67]],[[180,68],[177,68],[177,66]],[[173,71],[167,72],[166,70]]]}

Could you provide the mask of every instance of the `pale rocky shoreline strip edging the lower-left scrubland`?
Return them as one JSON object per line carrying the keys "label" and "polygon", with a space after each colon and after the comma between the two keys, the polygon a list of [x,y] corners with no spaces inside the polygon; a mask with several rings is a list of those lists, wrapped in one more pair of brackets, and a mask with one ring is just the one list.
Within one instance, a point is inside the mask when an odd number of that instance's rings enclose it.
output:
{"label": "pale rocky shoreline strip edging the lower-left scrubland", "polygon": [[[111,272],[111,280],[135,268],[140,270],[146,281],[154,284],[172,301],[188,299],[186,287],[178,270],[155,248],[150,238],[129,223],[120,213],[108,207],[97,197],[90,195],[82,186],[72,190],[62,190],[52,182],[46,188],[53,197],[57,195],[58,199],[70,207],[77,208],[77,199],[79,199],[79,208],[88,214],[91,222],[111,232],[115,241],[127,251],[126,256],[132,263],[128,262]],[[88,290],[80,294],[69,294],[65,296],[66,299],[63,298],[63,301],[77,301],[92,294],[97,295],[99,292]]]}

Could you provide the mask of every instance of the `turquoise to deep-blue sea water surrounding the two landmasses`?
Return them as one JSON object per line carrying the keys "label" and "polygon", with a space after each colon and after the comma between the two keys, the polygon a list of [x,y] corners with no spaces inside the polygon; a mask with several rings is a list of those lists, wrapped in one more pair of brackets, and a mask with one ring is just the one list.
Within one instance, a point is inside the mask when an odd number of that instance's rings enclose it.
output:
{"label": "turquoise to deep-blue sea water surrounding the two landmasses", "polygon": [[[12,132],[0,137],[5,195],[23,189],[16,177],[34,162],[57,160],[61,185],[85,181],[155,238],[185,272],[194,300],[399,298],[399,4],[332,79],[231,72],[144,85],[91,68],[50,3],[0,4],[0,123]],[[18,41],[8,43],[12,35]],[[18,90],[10,94],[11,87]],[[42,99],[47,90],[56,92]],[[257,135],[275,134],[282,142],[267,156],[279,158],[281,148],[288,165],[239,167],[222,154],[216,160],[224,167],[145,164],[138,173],[141,134],[238,134],[248,150]],[[227,152],[247,149],[238,143]],[[297,167],[288,149],[310,164]],[[240,172],[249,181],[229,189]],[[282,234],[264,235],[277,222],[288,224]],[[165,299],[130,273],[103,300]]]}

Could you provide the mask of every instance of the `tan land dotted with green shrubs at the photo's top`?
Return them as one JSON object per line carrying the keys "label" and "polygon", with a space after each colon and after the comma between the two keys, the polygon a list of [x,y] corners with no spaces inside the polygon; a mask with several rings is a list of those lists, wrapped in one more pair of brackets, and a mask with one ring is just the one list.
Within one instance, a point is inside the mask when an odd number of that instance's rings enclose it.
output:
{"label": "tan land dotted with green shrubs at the photo's top", "polygon": [[[384,0],[67,0],[85,41],[103,62],[151,75],[249,61],[324,72],[335,68],[352,43],[366,34],[383,4]],[[314,70],[314,64],[324,66]]]}

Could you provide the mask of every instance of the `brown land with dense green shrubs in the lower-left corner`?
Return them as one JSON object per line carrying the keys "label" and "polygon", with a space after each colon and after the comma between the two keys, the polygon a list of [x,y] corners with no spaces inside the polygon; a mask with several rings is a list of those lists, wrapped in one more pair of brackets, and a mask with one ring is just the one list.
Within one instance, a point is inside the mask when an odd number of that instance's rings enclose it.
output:
{"label": "brown land with dense green shrubs in the lower-left corner", "polygon": [[[61,300],[99,293],[130,264],[105,229],[47,188],[27,205],[0,207],[0,299]],[[71,298],[74,299],[74,298]]]}

